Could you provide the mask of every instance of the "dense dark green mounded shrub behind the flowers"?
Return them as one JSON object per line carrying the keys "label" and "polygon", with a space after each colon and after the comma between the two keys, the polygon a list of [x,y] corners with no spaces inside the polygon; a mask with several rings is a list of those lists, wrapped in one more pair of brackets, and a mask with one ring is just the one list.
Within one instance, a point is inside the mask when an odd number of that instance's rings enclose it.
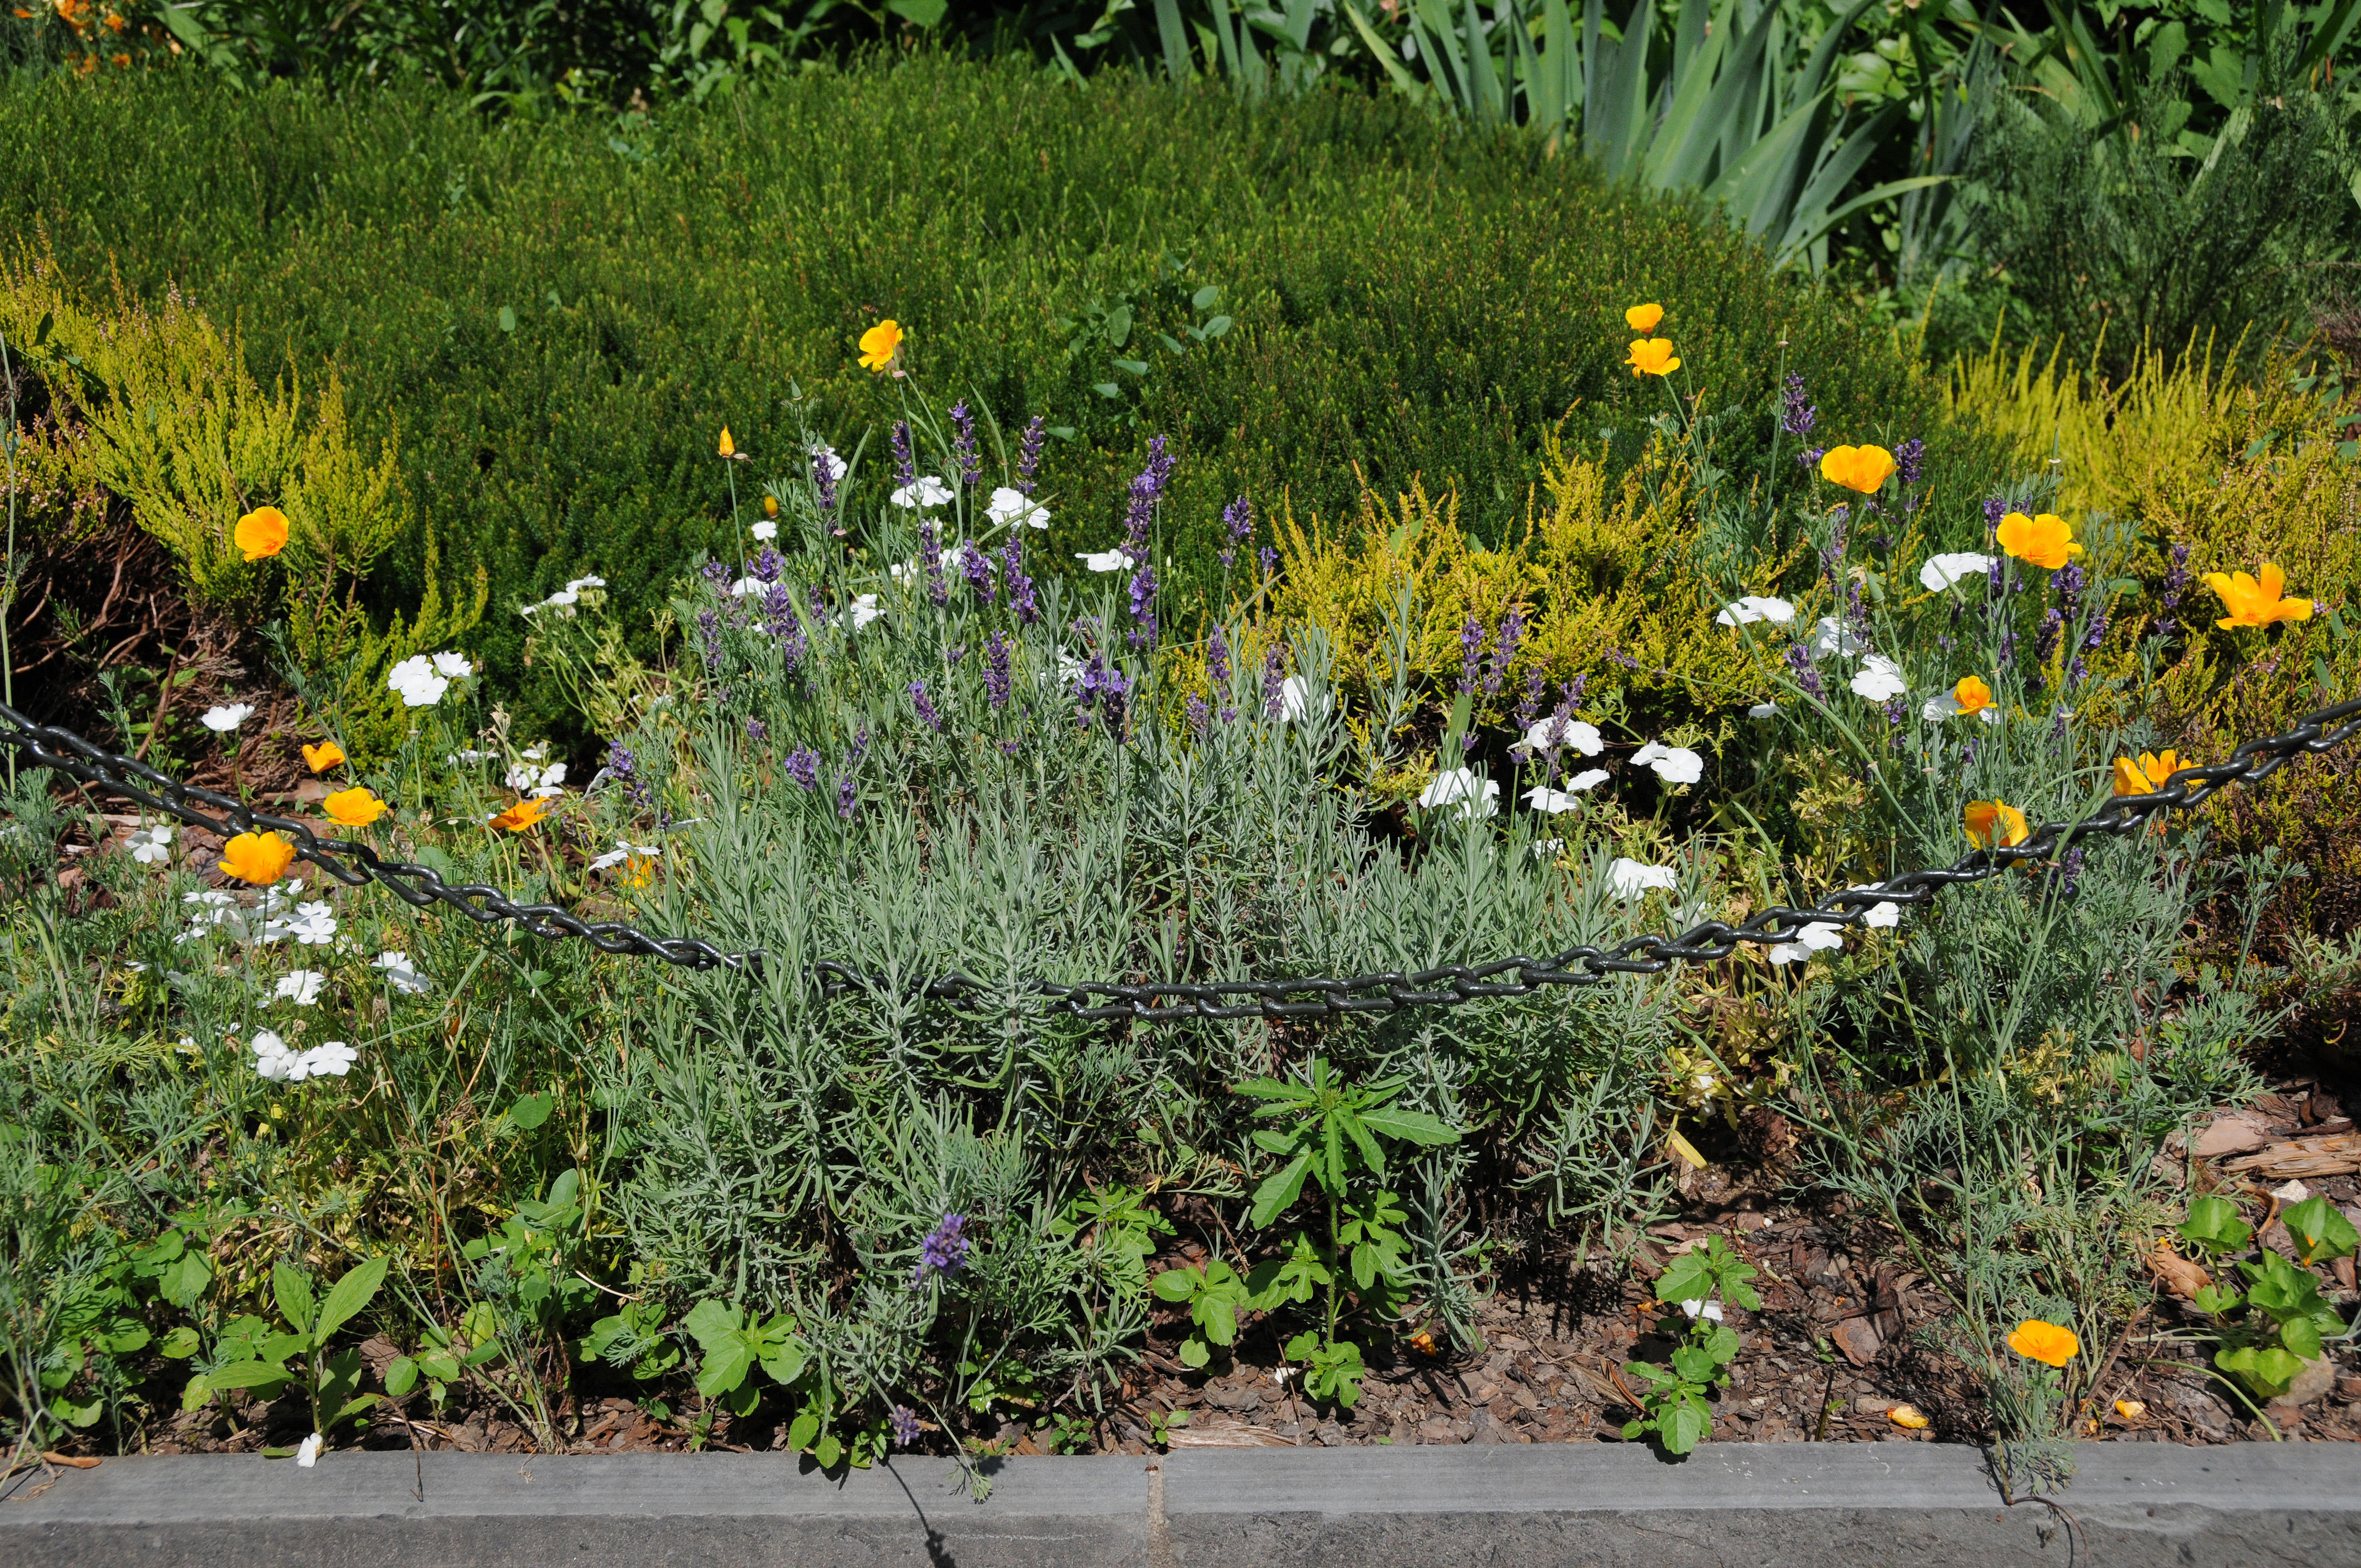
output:
{"label": "dense dark green mounded shrub behind the flowers", "polygon": [[[1237,491],[1336,515],[1362,477],[1412,475],[1497,531],[1554,420],[1631,439],[1662,406],[1620,368],[1634,300],[1667,305],[1709,406],[1768,406],[1785,335],[1830,439],[1924,432],[1938,477],[1971,456],[1889,340],[1709,215],[1398,99],[918,57],[654,120],[486,120],[423,90],[158,73],[5,87],[0,146],[0,220],[92,290],[109,267],[177,279],[260,371],[342,364],[364,418],[399,425],[444,557],[491,567],[493,671],[517,668],[517,600],[597,571],[649,607],[718,543],[713,432],[772,451],[789,378],[841,444],[883,420],[890,390],[852,364],[878,314],[933,390],[1079,427],[1048,465],[1060,557],[1112,541],[1157,430],[1197,538]],[[1178,331],[1204,283],[1237,326],[1152,354],[1124,409],[1091,390],[1103,361],[1065,361],[1055,316],[1131,295]]]}

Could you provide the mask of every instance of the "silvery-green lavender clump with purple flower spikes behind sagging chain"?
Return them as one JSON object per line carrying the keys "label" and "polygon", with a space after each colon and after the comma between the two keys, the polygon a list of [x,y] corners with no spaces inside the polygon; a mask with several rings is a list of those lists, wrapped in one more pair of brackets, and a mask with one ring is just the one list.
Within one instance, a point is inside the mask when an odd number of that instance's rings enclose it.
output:
{"label": "silvery-green lavender clump with purple flower spikes behind sagging chain", "polygon": [[[857,484],[836,515],[862,515]],[[1636,1063],[1669,1034],[1653,980],[1284,1027],[1048,1006],[1034,980],[1417,971],[1615,940],[1634,916],[1565,817],[1572,848],[1542,855],[1525,812],[1431,810],[1417,841],[1372,822],[1317,633],[1230,621],[1228,680],[1192,687],[1202,652],[1159,645],[1136,576],[1018,595],[1032,538],[977,491],[876,508],[850,557],[789,501],[789,555],[675,600],[694,697],[628,737],[678,758],[668,810],[694,817],[645,914],[767,954],[654,978],[654,1030],[611,1086],[614,1202],[671,1287],[793,1308],[855,1398],[994,1355],[1086,1393],[1145,1301],[1051,1223],[1114,1181],[1242,1193],[1263,1162],[1242,1079],[1320,1051],[1509,1148],[1544,1119],[1580,1141],[1568,1105],[1636,1124]],[[864,985],[829,994],[829,961]],[[921,994],[954,973],[977,989]],[[1466,1209],[1405,1178],[1435,1230],[1426,1287],[1464,1315]],[[951,1211],[970,1266],[909,1289]]]}

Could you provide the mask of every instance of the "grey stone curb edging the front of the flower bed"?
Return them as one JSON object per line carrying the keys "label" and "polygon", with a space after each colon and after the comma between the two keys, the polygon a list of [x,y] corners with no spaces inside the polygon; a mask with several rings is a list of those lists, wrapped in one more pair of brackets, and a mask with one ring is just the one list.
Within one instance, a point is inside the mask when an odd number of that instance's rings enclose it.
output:
{"label": "grey stone curb edging the front of the flower bed", "polygon": [[949,1459],[843,1483],[774,1455],[109,1459],[0,1504],[26,1568],[1417,1568],[2361,1563],[2361,1448],[2078,1448],[2075,1521],[1971,1448],[1716,1443]]}

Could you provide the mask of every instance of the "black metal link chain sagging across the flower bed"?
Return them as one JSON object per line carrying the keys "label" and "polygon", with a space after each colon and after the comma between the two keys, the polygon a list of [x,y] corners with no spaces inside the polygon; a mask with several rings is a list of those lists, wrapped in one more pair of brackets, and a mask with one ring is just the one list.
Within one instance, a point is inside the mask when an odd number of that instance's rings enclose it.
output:
{"label": "black metal link chain sagging across the flower bed", "polygon": [[[297,860],[309,860],[328,876],[347,883],[382,883],[404,902],[425,909],[449,904],[484,926],[517,921],[538,937],[581,937],[611,954],[645,954],[682,968],[753,971],[763,949],[722,952],[696,937],[659,937],[623,921],[583,921],[557,904],[517,904],[498,888],[482,883],[446,883],[432,867],[382,860],[366,843],[321,838],[293,817],[257,812],[243,801],[182,784],[137,758],[92,746],[71,730],[35,725],[24,713],[0,706],[0,744],[14,746],[35,767],[54,767],[83,784],[125,796],[139,805],[201,827],[224,841],[236,834],[279,831],[295,845]],[[1180,1018],[1315,1018],[1332,1013],[1379,1013],[1410,1006],[1459,1006],[1478,997],[1528,997],[1544,985],[1598,985],[1608,975],[1655,975],[1672,963],[1728,959],[1740,942],[1771,947],[1792,942],[1806,926],[1858,926],[1879,904],[1924,904],[1953,883],[1979,883],[2014,864],[2064,855],[2075,838],[2137,831],[2165,810],[2203,805],[2231,784],[2259,784],[2283,763],[2321,753],[2361,732],[2361,697],[2307,713],[2285,734],[2241,741],[2226,763],[2182,767],[2163,789],[2144,796],[2115,796],[2080,822],[2045,822],[2023,843],[1976,850],[1950,867],[1903,871],[1875,886],[1830,893],[1811,909],[1775,904],[1742,926],[1705,921],[1679,937],[1636,935],[1615,947],[1577,945],[1554,959],[1495,959],[1492,963],[1447,963],[1412,973],[1376,975],[1291,975],[1287,980],[1164,980],[1147,985],[1088,982],[1051,985],[1034,980],[1032,994],[1065,1006],[1077,1018],[1171,1023]],[[212,808],[205,812],[201,808]],[[349,862],[349,864],[347,864]],[[815,966],[826,994],[876,989],[883,982],[859,971],[824,961]],[[942,975],[921,987],[930,1001],[956,1001],[989,994],[968,975]],[[1105,999],[1105,1001],[1098,1001]],[[1235,1001],[1232,1001],[1235,999]]]}

